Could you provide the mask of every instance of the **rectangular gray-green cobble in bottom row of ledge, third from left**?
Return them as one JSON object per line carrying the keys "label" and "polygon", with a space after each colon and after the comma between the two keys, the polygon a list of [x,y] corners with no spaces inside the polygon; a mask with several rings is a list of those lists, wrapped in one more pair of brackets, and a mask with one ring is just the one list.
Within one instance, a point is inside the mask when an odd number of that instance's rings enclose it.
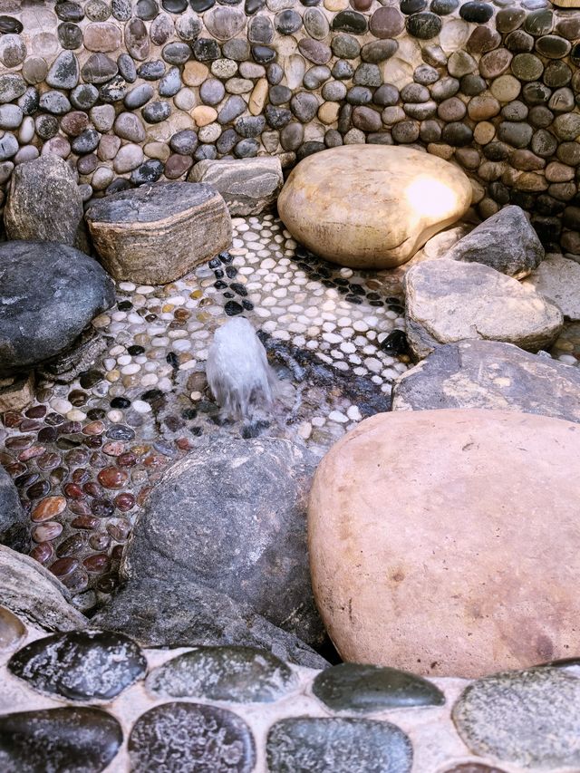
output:
{"label": "rectangular gray-green cobble in bottom row of ledge, third from left", "polygon": [[266,755],[280,773],[411,773],[412,764],[411,741],[396,725],[330,717],[275,722]]}

